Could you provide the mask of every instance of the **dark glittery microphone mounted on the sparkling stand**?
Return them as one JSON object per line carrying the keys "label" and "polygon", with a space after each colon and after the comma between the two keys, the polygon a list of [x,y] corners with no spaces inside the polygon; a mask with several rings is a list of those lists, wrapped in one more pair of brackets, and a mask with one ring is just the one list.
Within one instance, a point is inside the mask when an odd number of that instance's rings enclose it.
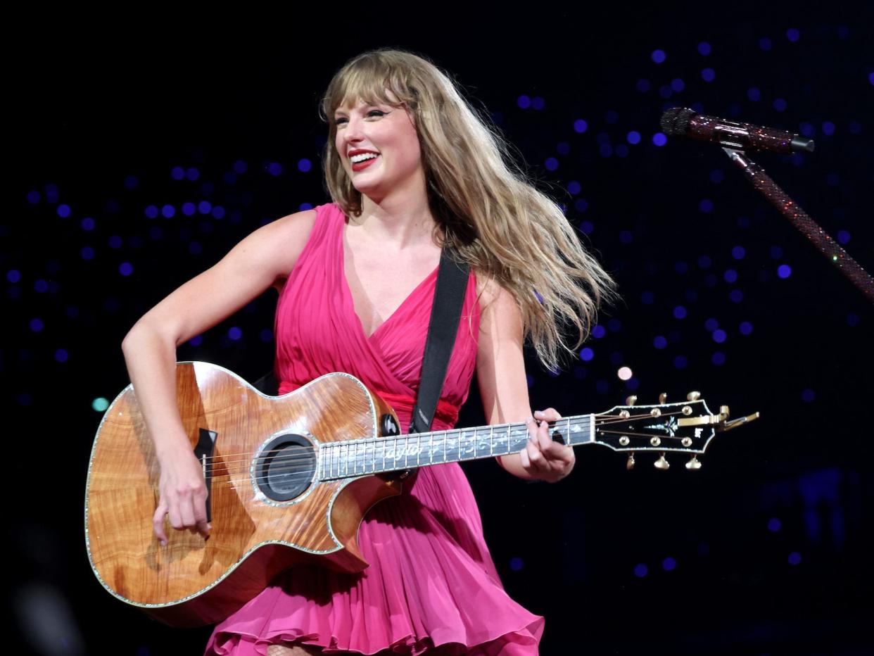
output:
{"label": "dark glittery microphone mounted on the sparkling stand", "polygon": [[771,150],[784,154],[799,150],[814,151],[813,139],[781,129],[762,128],[750,123],[696,114],[683,107],[672,107],[662,114],[662,131],[668,136],[689,136],[702,141],[715,141],[735,150]]}

